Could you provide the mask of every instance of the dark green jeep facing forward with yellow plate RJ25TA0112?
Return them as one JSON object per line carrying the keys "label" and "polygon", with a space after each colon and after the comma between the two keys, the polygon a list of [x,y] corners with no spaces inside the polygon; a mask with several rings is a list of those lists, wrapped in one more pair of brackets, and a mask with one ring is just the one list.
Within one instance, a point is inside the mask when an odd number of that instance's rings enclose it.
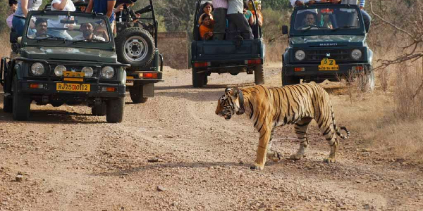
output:
{"label": "dark green jeep facing forward with yellow plate RJ25TA0112", "polygon": [[[35,23],[35,27],[32,24]],[[102,27],[105,34],[94,35]],[[125,68],[118,63],[109,18],[80,12],[32,11],[23,37],[11,33],[11,58],[1,58],[4,111],[27,120],[32,101],[92,107],[107,122],[122,122]]]}

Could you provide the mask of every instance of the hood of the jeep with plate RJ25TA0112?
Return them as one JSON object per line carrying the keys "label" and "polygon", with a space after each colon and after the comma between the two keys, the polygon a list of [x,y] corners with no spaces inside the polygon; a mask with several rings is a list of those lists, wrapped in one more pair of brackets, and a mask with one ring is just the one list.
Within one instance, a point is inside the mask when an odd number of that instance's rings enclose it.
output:
{"label": "hood of the jeep with plate RJ25TA0112", "polygon": [[25,47],[21,49],[21,56],[30,59],[44,60],[83,60],[100,63],[117,63],[114,51],[101,49],[82,49],[66,47]]}

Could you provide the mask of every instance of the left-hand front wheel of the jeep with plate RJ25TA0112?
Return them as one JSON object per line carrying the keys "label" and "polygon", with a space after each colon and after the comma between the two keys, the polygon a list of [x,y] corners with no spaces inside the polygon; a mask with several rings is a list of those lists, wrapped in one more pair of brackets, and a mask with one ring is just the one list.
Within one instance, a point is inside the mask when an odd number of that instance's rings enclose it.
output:
{"label": "left-hand front wheel of the jeep with plate RJ25TA0112", "polygon": [[31,98],[18,94],[18,77],[13,78],[13,120],[25,121],[30,118]]}

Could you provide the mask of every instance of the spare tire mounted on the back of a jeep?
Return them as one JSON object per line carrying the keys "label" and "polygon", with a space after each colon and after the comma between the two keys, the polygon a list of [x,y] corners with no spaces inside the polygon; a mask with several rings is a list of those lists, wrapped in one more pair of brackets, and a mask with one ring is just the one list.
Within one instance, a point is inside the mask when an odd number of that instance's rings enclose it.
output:
{"label": "spare tire mounted on the back of a jeep", "polygon": [[140,70],[154,58],[154,38],[139,27],[126,28],[116,37],[116,54],[120,63],[130,64],[129,70]]}

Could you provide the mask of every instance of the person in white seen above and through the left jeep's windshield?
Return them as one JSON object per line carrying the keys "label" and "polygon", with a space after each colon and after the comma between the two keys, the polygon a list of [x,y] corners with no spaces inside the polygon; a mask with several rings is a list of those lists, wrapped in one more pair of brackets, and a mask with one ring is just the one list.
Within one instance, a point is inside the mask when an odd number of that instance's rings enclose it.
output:
{"label": "person in white seen above and through the left jeep's windshield", "polygon": [[[51,11],[75,11],[75,5],[73,5],[73,2],[71,0],[53,0],[51,1]],[[65,19],[66,16],[63,16],[63,19]],[[71,40],[71,35],[66,32],[66,30],[60,30],[64,29],[66,27],[72,28],[72,25],[67,25],[65,23],[60,23],[60,20],[49,20],[49,28],[58,28],[56,30],[48,30],[47,34],[50,34],[54,37],[62,37],[64,39]]]}

